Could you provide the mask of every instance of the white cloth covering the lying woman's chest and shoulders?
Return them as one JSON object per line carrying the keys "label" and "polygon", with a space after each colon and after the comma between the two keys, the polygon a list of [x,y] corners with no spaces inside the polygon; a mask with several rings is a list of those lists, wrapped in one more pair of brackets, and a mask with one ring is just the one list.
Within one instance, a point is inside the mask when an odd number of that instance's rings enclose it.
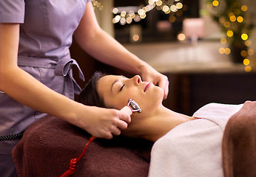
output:
{"label": "white cloth covering the lying woman's chest and shoulders", "polygon": [[221,177],[221,142],[226,122],[241,105],[209,103],[195,119],[176,126],[152,147],[149,177]]}

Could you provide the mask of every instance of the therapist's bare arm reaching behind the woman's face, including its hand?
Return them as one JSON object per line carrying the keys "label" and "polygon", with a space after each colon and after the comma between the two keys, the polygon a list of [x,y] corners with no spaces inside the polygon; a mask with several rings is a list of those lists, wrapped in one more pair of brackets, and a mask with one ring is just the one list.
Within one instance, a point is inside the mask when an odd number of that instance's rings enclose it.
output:
{"label": "therapist's bare arm reaching behind the woman's face, including its hand", "polygon": [[81,18],[74,37],[78,45],[93,58],[124,71],[140,74],[143,80],[160,86],[164,90],[164,98],[167,97],[168,78],[125,49],[107,32],[101,30],[91,2],[87,3],[84,16]]}

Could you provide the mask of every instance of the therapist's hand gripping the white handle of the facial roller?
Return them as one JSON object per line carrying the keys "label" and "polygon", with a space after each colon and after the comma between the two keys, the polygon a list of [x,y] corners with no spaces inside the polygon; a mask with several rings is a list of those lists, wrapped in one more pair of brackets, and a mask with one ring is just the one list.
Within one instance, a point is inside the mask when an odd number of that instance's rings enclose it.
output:
{"label": "therapist's hand gripping the white handle of the facial roller", "polygon": [[86,118],[86,128],[92,136],[104,139],[112,139],[113,135],[118,136],[121,130],[127,128],[131,117],[129,114],[110,108],[98,108],[92,106],[90,113],[92,117]]}

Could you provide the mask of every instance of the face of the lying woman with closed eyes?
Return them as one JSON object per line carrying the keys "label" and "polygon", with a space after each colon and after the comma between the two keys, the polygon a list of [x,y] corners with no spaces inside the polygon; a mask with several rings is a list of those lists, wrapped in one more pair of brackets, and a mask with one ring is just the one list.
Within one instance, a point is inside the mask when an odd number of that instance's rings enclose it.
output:
{"label": "face of the lying woman with closed eyes", "polygon": [[132,99],[140,105],[141,112],[150,111],[160,105],[164,97],[160,87],[142,82],[138,75],[130,79],[120,75],[107,75],[98,80],[96,88],[107,108],[119,110]]}

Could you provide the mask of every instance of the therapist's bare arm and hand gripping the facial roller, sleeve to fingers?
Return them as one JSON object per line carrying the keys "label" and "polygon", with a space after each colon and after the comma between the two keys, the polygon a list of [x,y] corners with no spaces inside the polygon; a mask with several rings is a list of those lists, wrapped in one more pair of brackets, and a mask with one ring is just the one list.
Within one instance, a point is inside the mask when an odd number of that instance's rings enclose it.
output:
{"label": "therapist's bare arm and hand gripping the facial roller, sleeve to fingers", "polygon": [[[127,128],[129,114],[82,105],[49,89],[17,65],[19,24],[0,24],[0,90],[37,111],[66,120],[92,134],[110,139]],[[1,119],[1,117],[0,117]]]}

